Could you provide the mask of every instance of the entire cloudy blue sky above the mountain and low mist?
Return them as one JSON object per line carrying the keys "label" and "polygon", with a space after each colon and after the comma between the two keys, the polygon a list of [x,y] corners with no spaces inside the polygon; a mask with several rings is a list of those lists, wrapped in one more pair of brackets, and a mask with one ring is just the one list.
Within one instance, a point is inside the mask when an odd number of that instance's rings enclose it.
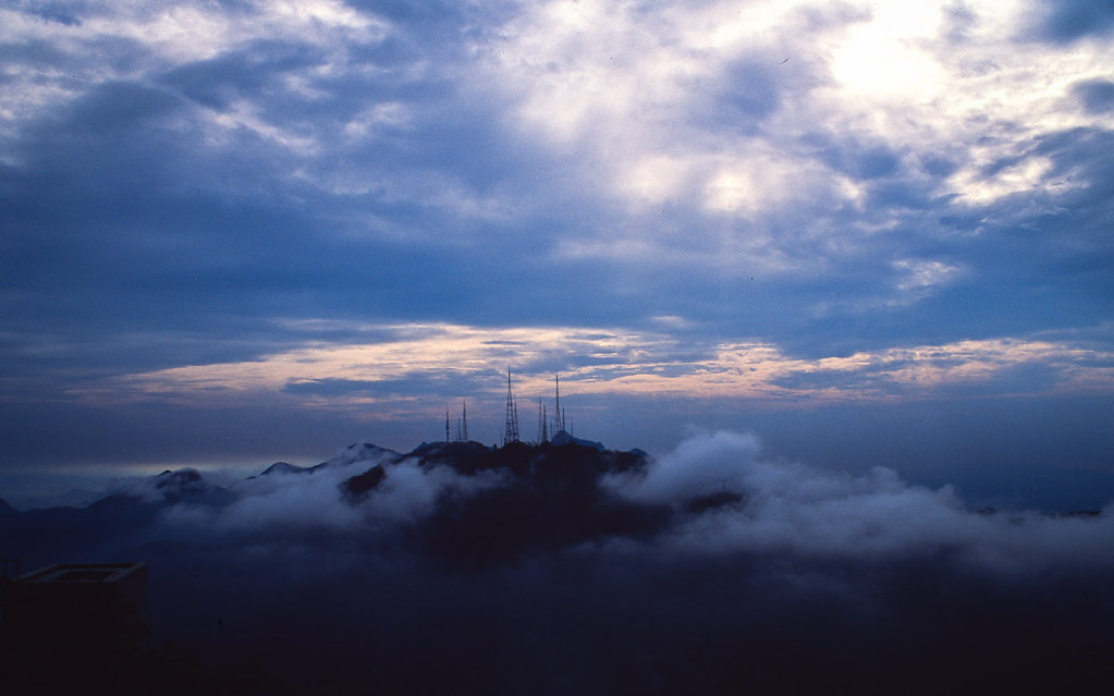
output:
{"label": "entire cloudy blue sky above the mountain and low mist", "polygon": [[1114,500],[1111,2],[0,26],[0,498],[494,443],[509,365],[528,438],[559,373],[618,449]]}

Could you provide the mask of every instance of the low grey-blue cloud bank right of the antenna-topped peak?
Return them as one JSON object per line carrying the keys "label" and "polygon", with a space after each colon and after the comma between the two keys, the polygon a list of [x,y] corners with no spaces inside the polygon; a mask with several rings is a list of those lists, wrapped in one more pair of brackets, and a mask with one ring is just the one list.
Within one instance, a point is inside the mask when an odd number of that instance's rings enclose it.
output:
{"label": "low grey-blue cloud bank right of the antenna-topped peak", "polygon": [[644,476],[612,476],[604,484],[632,500],[678,507],[736,494],[671,530],[659,548],[682,556],[789,553],[856,562],[942,557],[958,568],[1027,578],[1114,569],[1100,550],[1114,541],[1108,508],[1096,518],[986,514],[968,508],[949,486],[912,486],[891,469],[849,476],[764,457],[754,434],[697,433]]}

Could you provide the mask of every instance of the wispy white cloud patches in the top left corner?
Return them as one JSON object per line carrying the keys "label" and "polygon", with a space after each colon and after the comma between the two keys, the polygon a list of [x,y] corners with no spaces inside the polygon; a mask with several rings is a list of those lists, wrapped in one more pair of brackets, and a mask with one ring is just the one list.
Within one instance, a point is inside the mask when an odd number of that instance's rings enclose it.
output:
{"label": "wispy white cloud patches in the top left corner", "polygon": [[[91,1],[75,6],[75,21],[49,21],[33,13],[0,9],[4,42],[20,47],[42,43],[58,61],[9,60],[8,84],[0,92],[0,135],[58,109],[98,85],[143,81],[176,66],[215,58],[253,41],[290,41],[324,51],[332,65],[344,65],[351,45],[381,41],[390,31],[384,20],[340,0],[307,2],[253,1],[232,8],[213,2],[170,4]],[[33,53],[31,55],[33,56]],[[305,96],[306,80],[289,76],[292,94]],[[258,116],[260,105],[241,104],[215,122],[223,128],[248,127],[284,146],[312,151],[277,122]]]}

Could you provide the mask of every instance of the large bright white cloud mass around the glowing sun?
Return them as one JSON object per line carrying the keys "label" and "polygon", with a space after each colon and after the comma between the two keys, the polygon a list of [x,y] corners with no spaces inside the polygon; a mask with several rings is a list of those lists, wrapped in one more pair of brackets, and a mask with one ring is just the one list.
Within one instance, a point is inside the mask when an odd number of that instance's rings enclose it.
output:
{"label": "large bright white cloud mass around the glowing sun", "polygon": [[[808,145],[818,139],[879,144],[909,163],[948,157],[957,168],[947,176],[895,175],[961,204],[1066,194],[1071,186],[1051,180],[1048,161],[1028,156],[1025,144],[1112,125],[1108,115],[1083,114],[1066,98],[1082,77],[1110,77],[1102,58],[1108,46],[1042,47],[1034,65],[1032,47],[1019,39],[1027,7],[541,2],[524,6],[499,41],[477,53],[485,59],[480,79],[508,95],[512,126],[580,161],[593,190],[646,215],[635,228],[610,226],[571,248],[637,259],[671,254],[662,249],[675,241],[652,213],[678,204],[697,218],[752,223],[756,246],[732,245],[706,223],[690,234],[721,257],[762,264],[770,248],[823,258],[869,244],[876,232],[868,217],[882,212],[863,207],[870,183],[825,164]],[[769,94],[750,95],[752,86],[733,80],[746,61],[769,73]],[[771,110],[732,111],[733,99],[750,97]],[[824,200],[860,218],[825,224],[815,203]],[[809,205],[818,208],[815,229],[774,232],[771,216]],[[800,236],[832,239],[802,245]]]}

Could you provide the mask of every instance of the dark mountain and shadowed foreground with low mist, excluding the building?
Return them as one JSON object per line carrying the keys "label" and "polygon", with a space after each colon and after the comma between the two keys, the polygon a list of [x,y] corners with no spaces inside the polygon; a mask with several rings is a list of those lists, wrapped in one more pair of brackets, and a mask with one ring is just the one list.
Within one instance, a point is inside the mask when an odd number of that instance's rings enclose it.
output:
{"label": "dark mountain and shadowed foreground with low mist, excluding the building", "polygon": [[723,433],[662,461],[567,435],[360,444],[225,488],[184,470],[0,506],[25,571],[149,568],[149,630],[9,623],[2,668],[45,693],[1092,692],[1114,677],[1112,540],[1098,511],[971,511]]}

